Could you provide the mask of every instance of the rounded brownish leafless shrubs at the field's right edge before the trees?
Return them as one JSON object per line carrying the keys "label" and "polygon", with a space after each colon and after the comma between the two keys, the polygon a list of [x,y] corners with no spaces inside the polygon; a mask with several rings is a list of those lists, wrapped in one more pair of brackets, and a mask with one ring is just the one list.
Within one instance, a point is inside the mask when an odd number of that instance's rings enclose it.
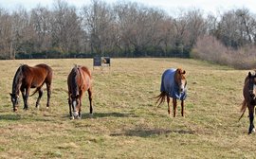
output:
{"label": "rounded brownish leafless shrubs at the field's right edge before the trees", "polygon": [[232,49],[212,36],[202,36],[192,49],[192,58],[225,64],[239,69],[256,67],[255,46]]}

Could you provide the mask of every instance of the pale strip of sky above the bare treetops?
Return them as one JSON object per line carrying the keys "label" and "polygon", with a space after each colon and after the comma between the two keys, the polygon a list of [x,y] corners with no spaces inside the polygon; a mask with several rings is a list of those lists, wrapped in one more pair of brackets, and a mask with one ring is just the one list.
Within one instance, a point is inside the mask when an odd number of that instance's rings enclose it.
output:
{"label": "pale strip of sky above the bare treetops", "polygon": [[[102,0],[107,4],[116,3],[119,0]],[[122,0],[125,1],[125,0]],[[173,14],[179,9],[202,9],[205,13],[216,14],[229,9],[246,8],[253,14],[256,14],[256,0],[127,0],[137,2],[146,7],[163,9],[169,14]],[[25,9],[33,9],[38,4],[51,7],[54,0],[0,0],[0,7],[4,9],[17,9],[23,6]],[[88,5],[91,0],[66,0],[69,5],[82,7]]]}

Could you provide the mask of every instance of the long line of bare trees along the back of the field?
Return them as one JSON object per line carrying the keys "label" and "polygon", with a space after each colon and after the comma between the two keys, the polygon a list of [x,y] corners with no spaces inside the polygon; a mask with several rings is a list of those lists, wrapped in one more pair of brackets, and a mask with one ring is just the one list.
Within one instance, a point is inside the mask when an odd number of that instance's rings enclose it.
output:
{"label": "long line of bare trees along the back of the field", "polygon": [[0,59],[190,57],[204,36],[232,49],[255,45],[256,16],[248,9],[218,15],[201,9],[162,9],[120,1],[92,0],[81,8],[56,0],[9,11],[0,7]]}

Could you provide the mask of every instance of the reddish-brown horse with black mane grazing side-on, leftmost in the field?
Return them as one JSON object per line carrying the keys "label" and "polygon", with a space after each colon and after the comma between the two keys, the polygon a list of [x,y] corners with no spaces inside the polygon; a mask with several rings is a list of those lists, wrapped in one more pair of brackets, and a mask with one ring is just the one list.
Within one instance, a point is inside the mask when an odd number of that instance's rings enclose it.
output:
{"label": "reddish-brown horse with black mane grazing side-on, leftmost in the field", "polygon": [[29,96],[30,88],[36,88],[33,96],[36,92],[39,96],[36,101],[36,107],[38,107],[41,97],[43,96],[43,85],[46,83],[47,89],[47,104],[49,107],[49,100],[51,94],[51,80],[52,80],[52,69],[46,64],[38,64],[34,67],[30,67],[27,64],[22,64],[13,78],[12,82],[12,93],[10,93],[10,99],[13,105],[13,111],[16,112],[19,104],[19,94],[22,92],[24,100],[24,109],[28,109],[27,98]]}

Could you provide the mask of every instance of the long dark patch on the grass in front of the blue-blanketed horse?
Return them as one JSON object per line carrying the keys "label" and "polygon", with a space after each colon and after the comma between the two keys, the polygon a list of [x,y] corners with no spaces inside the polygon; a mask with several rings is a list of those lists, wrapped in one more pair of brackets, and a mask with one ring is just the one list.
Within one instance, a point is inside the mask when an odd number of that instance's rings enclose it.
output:
{"label": "long dark patch on the grass in front of the blue-blanketed horse", "polygon": [[171,134],[171,133],[179,133],[179,134],[194,134],[191,130],[166,130],[166,129],[153,129],[153,130],[143,130],[141,128],[137,128],[135,130],[127,130],[123,133],[112,133],[111,136],[138,136],[138,137],[151,137],[154,135],[161,134]]}

